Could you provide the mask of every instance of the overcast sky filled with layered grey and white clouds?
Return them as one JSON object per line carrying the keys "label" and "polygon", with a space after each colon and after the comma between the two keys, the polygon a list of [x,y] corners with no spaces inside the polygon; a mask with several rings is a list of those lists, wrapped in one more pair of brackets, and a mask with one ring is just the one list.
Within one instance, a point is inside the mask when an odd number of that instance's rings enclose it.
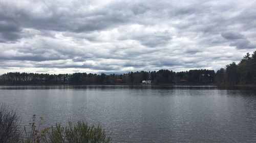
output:
{"label": "overcast sky filled with layered grey and white clouds", "polygon": [[255,50],[253,0],[0,0],[0,74],[218,70]]}

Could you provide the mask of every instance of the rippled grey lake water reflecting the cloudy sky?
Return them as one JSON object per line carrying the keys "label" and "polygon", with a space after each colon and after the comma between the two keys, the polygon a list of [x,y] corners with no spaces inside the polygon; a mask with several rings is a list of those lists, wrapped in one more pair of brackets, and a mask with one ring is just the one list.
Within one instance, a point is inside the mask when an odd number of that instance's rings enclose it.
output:
{"label": "rippled grey lake water reflecting the cloudy sky", "polygon": [[212,86],[0,86],[0,103],[44,126],[100,124],[113,142],[256,142],[256,91]]}

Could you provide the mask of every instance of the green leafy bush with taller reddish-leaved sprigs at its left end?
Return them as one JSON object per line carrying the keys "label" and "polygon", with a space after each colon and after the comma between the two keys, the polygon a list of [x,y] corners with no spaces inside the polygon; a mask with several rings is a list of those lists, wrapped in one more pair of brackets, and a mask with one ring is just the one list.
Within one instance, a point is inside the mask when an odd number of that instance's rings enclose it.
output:
{"label": "green leafy bush with taller reddish-leaved sprigs at its left end", "polygon": [[30,129],[24,127],[26,138],[24,143],[108,143],[111,137],[98,126],[89,126],[88,123],[78,121],[73,124],[71,121],[68,126],[55,126],[40,129],[43,118],[36,123],[36,116],[33,115]]}

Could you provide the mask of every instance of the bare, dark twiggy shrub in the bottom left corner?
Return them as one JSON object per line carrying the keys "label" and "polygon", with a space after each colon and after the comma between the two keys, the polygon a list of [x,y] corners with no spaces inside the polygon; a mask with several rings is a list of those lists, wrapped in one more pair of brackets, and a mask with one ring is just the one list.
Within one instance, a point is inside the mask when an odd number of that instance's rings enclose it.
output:
{"label": "bare, dark twiggy shrub in the bottom left corner", "polygon": [[15,110],[0,104],[0,142],[16,143],[22,139],[19,120]]}

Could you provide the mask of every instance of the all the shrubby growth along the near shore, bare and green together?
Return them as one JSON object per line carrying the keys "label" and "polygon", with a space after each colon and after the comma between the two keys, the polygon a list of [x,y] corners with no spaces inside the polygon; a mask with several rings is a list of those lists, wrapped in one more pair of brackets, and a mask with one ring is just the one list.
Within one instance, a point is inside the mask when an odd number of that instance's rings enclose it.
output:
{"label": "all the shrubby growth along the near shore, bare and green together", "polygon": [[[0,107],[0,142],[1,143],[109,143],[111,137],[98,126],[90,126],[84,121],[73,123],[68,126],[56,123],[54,126],[40,130],[42,121],[40,118],[36,123],[36,116],[33,115],[30,128],[24,127],[20,130],[19,118],[16,112],[7,105]],[[25,133],[25,137],[22,134]]]}

